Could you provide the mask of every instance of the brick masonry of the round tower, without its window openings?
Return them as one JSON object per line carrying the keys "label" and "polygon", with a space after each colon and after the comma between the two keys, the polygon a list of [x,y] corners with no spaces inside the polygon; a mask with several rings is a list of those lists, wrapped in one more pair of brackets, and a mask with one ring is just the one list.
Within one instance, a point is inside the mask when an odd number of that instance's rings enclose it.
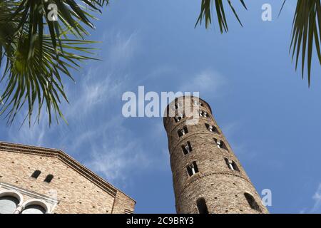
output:
{"label": "brick masonry of the round tower, without its window openings", "polygon": [[[193,98],[190,100],[190,103],[185,103],[185,106],[180,105],[180,107],[195,110]],[[207,112],[209,116],[208,118],[200,117],[196,124],[187,125],[186,120],[192,117],[185,117],[178,123],[172,117],[164,118],[164,126],[168,133],[176,211],[178,213],[198,213],[196,201],[203,197],[210,213],[268,213],[240,161],[215,122],[210,106],[204,100],[199,101],[203,104],[199,109]],[[178,102],[181,103],[181,100]],[[178,113],[182,111],[178,108]],[[195,115],[199,115],[198,110],[195,110]],[[205,123],[214,125],[218,133],[208,131]],[[179,137],[178,130],[184,126],[187,126],[188,133]],[[214,138],[222,140],[227,150],[219,148]],[[184,155],[181,146],[186,145],[188,141],[192,152]],[[230,170],[225,158],[233,160],[240,171]],[[187,167],[194,161],[199,172],[190,177]],[[250,207],[245,198],[245,192],[254,197],[262,212]]]}

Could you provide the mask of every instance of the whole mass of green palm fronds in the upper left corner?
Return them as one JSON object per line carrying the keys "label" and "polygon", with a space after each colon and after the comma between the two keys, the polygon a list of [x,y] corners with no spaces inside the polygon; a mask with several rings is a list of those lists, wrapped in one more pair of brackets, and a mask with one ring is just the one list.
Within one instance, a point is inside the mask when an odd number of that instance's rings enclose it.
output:
{"label": "whole mass of green palm fronds in the upper left corner", "polygon": [[[49,115],[63,118],[60,104],[68,99],[62,78],[73,79],[70,70],[80,68],[79,61],[90,56],[92,41],[86,41],[91,20],[100,13],[108,0],[0,0],[0,69],[1,84],[5,88],[0,96],[0,115],[8,124],[13,123],[24,105],[26,117],[45,106]],[[49,19],[50,4],[58,10],[58,20]],[[36,110],[37,109],[37,110]],[[36,110],[36,111],[35,111]],[[64,119],[64,118],[63,118]]]}

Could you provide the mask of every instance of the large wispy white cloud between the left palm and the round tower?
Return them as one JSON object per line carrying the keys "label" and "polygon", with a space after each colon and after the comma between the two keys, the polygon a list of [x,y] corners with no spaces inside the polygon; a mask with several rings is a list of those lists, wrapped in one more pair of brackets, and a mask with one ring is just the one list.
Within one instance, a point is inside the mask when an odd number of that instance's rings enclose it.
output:
{"label": "large wispy white cloud between the left palm and the round tower", "polygon": [[113,184],[123,186],[132,172],[149,164],[141,142],[124,123],[120,107],[121,95],[131,83],[126,63],[135,56],[138,36],[136,32],[128,36],[117,32],[105,38],[107,57],[77,77],[76,85],[66,87],[71,104],[65,103],[61,109],[69,125],[49,128],[44,113],[39,125],[9,128],[7,140],[64,150]]}

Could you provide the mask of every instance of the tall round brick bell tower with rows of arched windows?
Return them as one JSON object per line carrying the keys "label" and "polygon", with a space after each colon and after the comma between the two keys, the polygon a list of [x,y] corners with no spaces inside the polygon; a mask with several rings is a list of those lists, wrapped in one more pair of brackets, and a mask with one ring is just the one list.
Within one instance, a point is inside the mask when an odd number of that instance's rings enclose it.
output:
{"label": "tall round brick bell tower with rows of arched windows", "polygon": [[208,103],[176,98],[165,114],[178,214],[268,213]]}

